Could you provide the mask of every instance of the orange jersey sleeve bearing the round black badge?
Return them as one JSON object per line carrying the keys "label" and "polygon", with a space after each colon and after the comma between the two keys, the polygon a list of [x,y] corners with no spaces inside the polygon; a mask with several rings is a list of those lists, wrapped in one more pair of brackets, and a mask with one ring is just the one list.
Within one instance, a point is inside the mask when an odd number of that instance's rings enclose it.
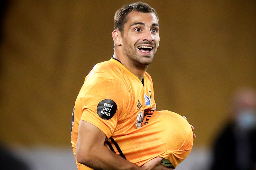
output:
{"label": "orange jersey sleeve bearing the round black badge", "polygon": [[80,120],[93,124],[110,138],[126,109],[127,97],[129,93],[126,86],[119,80],[95,83],[81,96],[83,113]]}

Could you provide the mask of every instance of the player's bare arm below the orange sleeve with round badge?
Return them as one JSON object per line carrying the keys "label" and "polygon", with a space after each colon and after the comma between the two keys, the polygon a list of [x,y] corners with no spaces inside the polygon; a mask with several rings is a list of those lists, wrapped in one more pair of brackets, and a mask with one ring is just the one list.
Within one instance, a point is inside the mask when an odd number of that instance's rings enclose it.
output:
{"label": "player's bare arm below the orange sleeve with round badge", "polygon": [[96,126],[81,120],[76,146],[77,161],[95,170],[144,169],[104,146],[105,139],[106,135]]}

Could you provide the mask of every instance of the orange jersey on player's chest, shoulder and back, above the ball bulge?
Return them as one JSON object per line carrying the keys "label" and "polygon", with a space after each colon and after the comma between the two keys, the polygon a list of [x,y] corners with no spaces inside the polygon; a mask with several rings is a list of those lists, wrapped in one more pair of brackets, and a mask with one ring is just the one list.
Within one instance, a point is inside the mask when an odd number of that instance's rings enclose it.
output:
{"label": "orange jersey on player's chest, shoulder and back, above the ball bulge", "polygon": [[[143,80],[144,85],[113,58],[93,67],[75,101],[71,128],[74,155],[80,120],[95,125],[111,139],[141,126],[144,112],[156,108],[150,75],[145,73]],[[86,169],[78,162],[77,165]]]}

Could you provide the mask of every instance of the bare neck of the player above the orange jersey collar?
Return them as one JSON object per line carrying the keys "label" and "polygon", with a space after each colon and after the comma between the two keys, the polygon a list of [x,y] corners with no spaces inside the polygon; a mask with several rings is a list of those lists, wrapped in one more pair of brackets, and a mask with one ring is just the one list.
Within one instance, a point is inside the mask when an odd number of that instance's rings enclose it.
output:
{"label": "bare neck of the player above the orange jersey collar", "polygon": [[147,70],[147,66],[141,66],[141,68],[138,68],[127,57],[124,57],[124,55],[118,54],[117,52],[114,52],[113,58],[119,60],[131,73],[142,81]]}

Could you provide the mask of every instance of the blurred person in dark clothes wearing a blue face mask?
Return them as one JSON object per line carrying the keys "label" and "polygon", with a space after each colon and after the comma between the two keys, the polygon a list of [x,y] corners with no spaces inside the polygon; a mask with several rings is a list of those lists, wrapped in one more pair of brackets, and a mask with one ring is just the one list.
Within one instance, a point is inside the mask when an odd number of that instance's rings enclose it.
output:
{"label": "blurred person in dark clothes wearing a blue face mask", "polygon": [[232,99],[230,113],[229,121],[214,141],[210,169],[255,170],[256,91],[238,89]]}

